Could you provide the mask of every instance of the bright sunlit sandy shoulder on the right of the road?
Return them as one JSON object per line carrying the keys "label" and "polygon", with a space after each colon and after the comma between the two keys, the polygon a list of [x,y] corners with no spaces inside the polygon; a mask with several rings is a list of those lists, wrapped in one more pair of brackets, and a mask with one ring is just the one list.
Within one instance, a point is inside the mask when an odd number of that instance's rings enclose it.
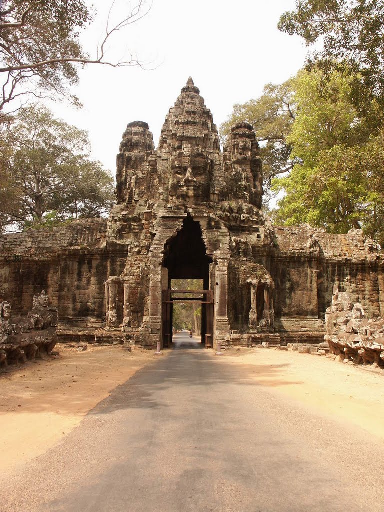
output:
{"label": "bright sunlit sandy shoulder on the right of the road", "polygon": [[231,364],[248,367],[255,383],[384,439],[384,372],[275,349],[230,349],[224,354]]}

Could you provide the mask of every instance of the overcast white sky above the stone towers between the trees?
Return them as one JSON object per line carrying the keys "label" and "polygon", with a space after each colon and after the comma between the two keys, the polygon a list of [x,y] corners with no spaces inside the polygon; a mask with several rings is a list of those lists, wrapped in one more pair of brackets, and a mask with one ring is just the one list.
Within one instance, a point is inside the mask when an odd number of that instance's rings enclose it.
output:
{"label": "overcast white sky above the stone towers between the trees", "polygon": [[[82,36],[91,54],[111,2],[92,2],[98,15]],[[74,91],[84,108],[75,111],[55,104],[53,110],[57,117],[89,131],[93,158],[115,175],[127,123],[147,122],[157,146],[165,116],[189,76],[220,126],[234,103],[256,98],[266,83],[281,83],[294,75],[304,64],[306,48],[300,38],[277,29],[280,15],[294,4],[294,0],[154,0],[150,13],[113,39],[108,53],[110,60],[118,60],[132,52],[151,70],[87,66],[80,71]],[[115,19],[122,18],[129,5],[117,0]]]}

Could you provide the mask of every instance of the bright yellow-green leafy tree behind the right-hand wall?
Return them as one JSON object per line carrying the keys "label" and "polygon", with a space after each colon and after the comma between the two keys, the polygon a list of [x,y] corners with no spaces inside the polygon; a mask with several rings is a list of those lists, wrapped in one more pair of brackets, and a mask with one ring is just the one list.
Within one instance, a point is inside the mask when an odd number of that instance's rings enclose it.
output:
{"label": "bright yellow-green leafy tree behind the right-hand wall", "polygon": [[[369,121],[358,116],[352,82],[349,74],[325,80],[321,71],[312,71],[298,83],[298,112],[287,137],[297,163],[288,177],[273,182],[275,191],[285,191],[274,219],[334,233],[364,228],[382,240],[383,132],[372,133]],[[372,102],[369,118],[375,112],[379,117]]]}

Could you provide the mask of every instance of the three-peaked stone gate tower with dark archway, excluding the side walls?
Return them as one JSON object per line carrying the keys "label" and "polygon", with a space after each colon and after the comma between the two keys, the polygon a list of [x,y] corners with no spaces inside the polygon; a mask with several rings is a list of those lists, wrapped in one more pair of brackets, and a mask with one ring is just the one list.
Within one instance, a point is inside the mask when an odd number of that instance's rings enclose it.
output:
{"label": "three-peaked stone gate tower with dark archway, excluding the side walls", "polygon": [[[224,336],[231,329],[231,275],[241,281],[239,286],[254,288],[244,292],[246,327],[259,327],[260,315],[273,309],[273,300],[268,295],[268,307],[259,307],[255,319],[250,297],[257,296],[259,282],[272,280],[266,271],[260,279],[254,275],[251,246],[239,242],[239,232],[247,231],[264,243],[260,148],[252,126],[233,126],[222,152],[212,114],[189,78],[166,116],[157,150],[145,122],[127,126],[116,178],[118,204],[110,217],[109,244],[125,246],[128,258],[124,272],[106,283],[108,328],[122,327],[126,336],[135,332],[150,341],[163,339],[164,291],[172,279],[202,279],[215,297],[211,323]],[[232,258],[238,252],[243,263],[253,264],[249,276],[247,271],[238,275]],[[264,297],[260,290],[258,297]],[[271,318],[269,313],[268,322],[264,318],[268,328]]]}

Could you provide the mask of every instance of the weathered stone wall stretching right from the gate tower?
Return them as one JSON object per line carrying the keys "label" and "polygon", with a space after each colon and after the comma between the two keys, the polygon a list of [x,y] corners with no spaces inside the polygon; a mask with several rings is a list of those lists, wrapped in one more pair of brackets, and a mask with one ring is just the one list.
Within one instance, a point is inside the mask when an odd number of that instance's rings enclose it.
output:
{"label": "weathered stone wall stretching right from the gate tower", "polygon": [[[274,230],[275,245],[279,251],[279,263],[275,266],[285,269],[283,272],[288,277],[285,278],[287,300],[279,306],[278,299],[276,304],[279,313],[287,314],[290,297],[294,296],[296,290],[299,308],[300,302],[310,303],[308,307],[313,313],[324,319],[332,300],[333,285],[337,283],[340,290],[348,292],[354,302],[362,303],[370,316],[384,314],[382,256],[362,231],[351,230],[347,234],[332,235],[308,227],[275,227]],[[294,268],[296,270],[292,271]],[[273,270],[271,272],[273,274]],[[292,274],[295,275],[293,280]],[[314,308],[316,302],[317,311]],[[294,310],[290,310],[290,313],[294,314]],[[310,310],[308,314],[311,314]]]}

